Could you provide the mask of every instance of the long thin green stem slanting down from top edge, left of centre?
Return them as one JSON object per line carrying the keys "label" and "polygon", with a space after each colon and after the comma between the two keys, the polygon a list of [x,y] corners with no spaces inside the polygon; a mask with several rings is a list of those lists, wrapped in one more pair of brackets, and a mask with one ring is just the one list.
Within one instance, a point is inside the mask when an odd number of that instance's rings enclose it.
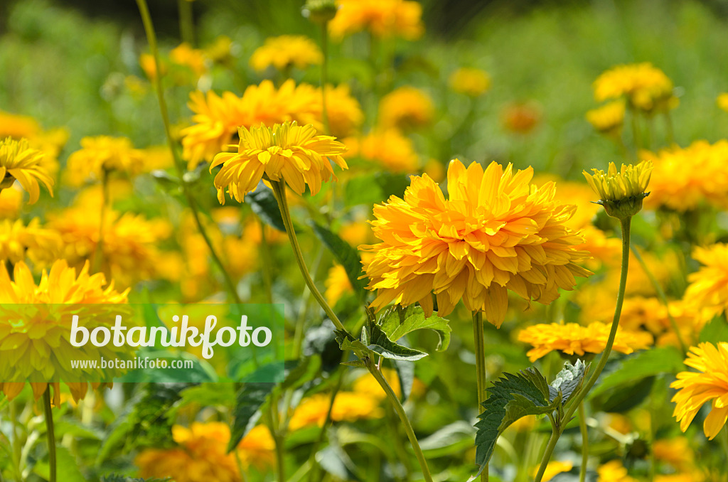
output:
{"label": "long thin green stem slanting down from top edge, left of centre", "polygon": [[[151,55],[154,57],[154,66],[157,68],[157,72],[161,72],[159,68],[159,50],[157,49],[157,35],[154,33],[154,24],[151,23],[151,16],[149,15],[149,7],[146,5],[146,0],[136,0],[137,6],[139,7],[139,13],[141,14],[141,20],[144,24],[144,31],[146,32],[146,39],[147,42],[149,42],[149,50],[151,50]],[[179,154],[177,152],[177,149],[175,148],[175,140],[172,137],[172,127],[170,122],[170,115],[169,111],[167,110],[167,102],[165,101],[165,94],[162,90],[162,76],[157,75],[154,76],[154,87],[157,90],[157,100],[159,100],[159,110],[162,112],[162,122],[165,124],[165,134],[167,135],[167,143],[170,146],[170,151],[172,151],[172,156],[175,159],[175,167],[177,169],[177,173],[179,175],[181,185],[182,185],[182,191],[183,194],[187,200],[187,204],[189,205],[189,208],[192,212],[192,217],[194,218],[194,223],[197,224],[197,229],[199,230],[199,234],[202,234],[202,239],[205,240],[205,244],[207,245],[207,248],[210,249],[210,256],[213,257],[213,262],[218,266],[218,269],[220,269],[220,272],[223,275],[223,280],[225,282],[228,294],[232,301],[236,304],[242,304],[242,301],[240,299],[240,295],[237,293],[237,288],[235,288],[235,283],[233,283],[232,278],[228,274],[228,272],[225,269],[225,266],[223,265],[222,261],[220,260],[220,256],[218,256],[218,253],[215,251],[215,248],[213,247],[213,242],[210,241],[210,237],[207,235],[207,231],[205,230],[205,226],[202,225],[202,221],[199,218],[199,210],[197,209],[197,201],[195,201],[194,197],[192,196],[192,193],[189,190],[189,185],[184,181],[184,168],[182,159],[180,159]]]}

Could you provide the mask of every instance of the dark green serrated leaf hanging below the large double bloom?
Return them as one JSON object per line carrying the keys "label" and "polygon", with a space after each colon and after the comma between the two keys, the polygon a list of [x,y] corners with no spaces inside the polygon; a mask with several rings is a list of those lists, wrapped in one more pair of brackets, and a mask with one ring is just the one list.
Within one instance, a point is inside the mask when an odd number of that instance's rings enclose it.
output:
{"label": "dark green serrated leaf hanging below the large double bloom", "polygon": [[554,411],[561,404],[561,396],[550,398],[549,385],[536,369],[529,368],[518,374],[503,376],[488,388],[488,400],[483,402],[484,411],[475,424],[475,463],[480,470],[470,478],[475,480],[491,459],[496,440],[516,420],[526,415],[541,415]]}

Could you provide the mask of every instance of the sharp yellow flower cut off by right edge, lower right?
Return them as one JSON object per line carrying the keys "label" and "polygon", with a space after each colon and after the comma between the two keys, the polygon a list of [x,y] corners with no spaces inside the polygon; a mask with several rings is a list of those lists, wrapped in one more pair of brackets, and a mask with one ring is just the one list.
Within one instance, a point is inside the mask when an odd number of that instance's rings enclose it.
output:
{"label": "sharp yellow flower cut off by right edge, lower right", "polygon": [[690,347],[685,365],[694,371],[682,371],[670,387],[678,389],[671,401],[676,403],[673,416],[683,432],[704,403],[712,408],[703,422],[703,432],[713,440],[728,419],[728,343],[701,343]]}

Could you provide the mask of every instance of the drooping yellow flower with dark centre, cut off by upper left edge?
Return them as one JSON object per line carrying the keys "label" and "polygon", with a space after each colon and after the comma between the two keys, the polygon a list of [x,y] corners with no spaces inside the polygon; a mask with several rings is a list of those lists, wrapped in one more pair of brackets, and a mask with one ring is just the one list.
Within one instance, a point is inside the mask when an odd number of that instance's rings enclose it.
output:
{"label": "drooping yellow flower with dark centre, cut off by upper left edge", "polygon": [[28,147],[27,140],[7,138],[0,141],[0,191],[12,186],[17,179],[31,196],[28,202],[34,204],[40,197],[40,181],[52,196],[53,179],[42,163],[43,153]]}

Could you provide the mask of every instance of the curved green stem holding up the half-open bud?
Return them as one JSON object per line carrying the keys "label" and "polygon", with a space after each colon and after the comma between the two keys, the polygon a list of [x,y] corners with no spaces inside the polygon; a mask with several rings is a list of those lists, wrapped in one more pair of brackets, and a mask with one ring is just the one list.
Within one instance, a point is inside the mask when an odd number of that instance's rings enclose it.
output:
{"label": "curved green stem holding up the half-open bud", "polygon": [[541,465],[539,466],[539,472],[536,475],[535,482],[541,482],[541,478],[543,477],[544,471],[546,470],[546,465],[548,465],[548,462],[551,459],[551,455],[553,454],[553,450],[555,449],[558,438],[561,436],[561,433],[566,427],[566,424],[569,422],[569,420],[571,420],[571,416],[574,416],[574,411],[577,410],[579,404],[582,403],[582,400],[584,400],[584,398],[587,396],[587,393],[589,393],[589,390],[591,390],[591,388],[596,383],[599,375],[601,374],[601,371],[604,370],[604,366],[606,365],[606,360],[609,358],[609,354],[612,353],[612,345],[614,345],[614,337],[617,336],[617,328],[619,328],[620,325],[620,315],[622,315],[622,303],[625,301],[625,290],[627,288],[627,272],[630,262],[631,221],[632,218],[626,218],[621,220],[622,272],[620,273],[620,289],[617,292],[617,306],[614,307],[614,318],[612,319],[612,329],[609,331],[609,339],[607,339],[606,341],[606,347],[604,348],[604,352],[599,358],[596,370],[591,374],[587,382],[584,384],[584,387],[582,387],[582,390],[579,390],[579,394],[574,398],[572,402],[570,402],[569,408],[567,408],[566,412],[563,415],[563,418],[561,419],[563,423],[559,424],[558,429],[554,430],[554,432],[551,434],[551,438],[549,439],[548,445],[546,446],[546,451],[544,452],[544,456],[541,459]]}

